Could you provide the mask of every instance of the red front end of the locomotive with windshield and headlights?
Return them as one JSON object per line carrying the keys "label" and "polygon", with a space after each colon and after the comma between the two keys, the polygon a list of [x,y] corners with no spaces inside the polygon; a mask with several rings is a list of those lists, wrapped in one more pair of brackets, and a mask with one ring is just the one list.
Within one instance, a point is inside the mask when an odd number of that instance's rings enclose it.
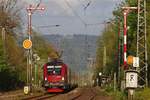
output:
{"label": "red front end of the locomotive with windshield and headlights", "polygon": [[63,92],[67,88],[67,65],[58,61],[46,63],[44,87],[48,92]]}

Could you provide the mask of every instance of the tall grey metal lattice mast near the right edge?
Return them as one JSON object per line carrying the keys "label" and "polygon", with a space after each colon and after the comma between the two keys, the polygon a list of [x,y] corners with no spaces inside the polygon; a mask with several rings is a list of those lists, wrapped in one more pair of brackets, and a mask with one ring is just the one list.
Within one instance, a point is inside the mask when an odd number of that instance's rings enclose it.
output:
{"label": "tall grey metal lattice mast near the right edge", "polygon": [[146,0],[138,0],[137,57],[140,58],[139,84],[148,85],[147,44],[146,44]]}

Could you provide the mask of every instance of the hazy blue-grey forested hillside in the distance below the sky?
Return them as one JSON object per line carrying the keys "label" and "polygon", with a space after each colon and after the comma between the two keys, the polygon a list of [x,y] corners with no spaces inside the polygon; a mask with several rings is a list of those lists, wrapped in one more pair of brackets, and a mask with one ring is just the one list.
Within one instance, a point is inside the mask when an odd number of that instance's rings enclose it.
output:
{"label": "hazy blue-grey forested hillside in the distance below the sky", "polygon": [[47,41],[52,43],[56,50],[62,52],[62,59],[70,68],[82,72],[87,69],[88,58],[95,58],[96,41],[94,35],[45,35]]}

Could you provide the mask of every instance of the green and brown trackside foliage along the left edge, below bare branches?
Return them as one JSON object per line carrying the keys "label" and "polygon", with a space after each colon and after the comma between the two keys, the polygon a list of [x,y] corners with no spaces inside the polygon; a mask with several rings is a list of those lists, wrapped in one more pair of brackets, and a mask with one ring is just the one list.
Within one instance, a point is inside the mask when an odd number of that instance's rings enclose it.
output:
{"label": "green and brown trackside foliage along the left edge, below bare branches", "polygon": [[4,41],[0,38],[0,90],[14,89],[25,81],[23,52],[12,36],[7,35],[5,42],[6,54]]}

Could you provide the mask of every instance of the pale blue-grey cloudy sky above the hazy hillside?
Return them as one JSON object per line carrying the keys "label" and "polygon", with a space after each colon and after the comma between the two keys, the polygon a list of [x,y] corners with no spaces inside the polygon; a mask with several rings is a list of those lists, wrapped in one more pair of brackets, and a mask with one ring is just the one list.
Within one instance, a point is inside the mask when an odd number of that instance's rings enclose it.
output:
{"label": "pale blue-grey cloudy sky above the hazy hillside", "polygon": [[[22,1],[25,7],[39,2],[39,0]],[[104,22],[112,18],[112,11],[120,2],[121,0],[42,0],[41,5],[45,10],[34,12],[32,25],[42,34],[100,35],[105,26]],[[23,20],[26,26],[26,12]],[[49,26],[47,28],[40,27],[47,25]]]}

